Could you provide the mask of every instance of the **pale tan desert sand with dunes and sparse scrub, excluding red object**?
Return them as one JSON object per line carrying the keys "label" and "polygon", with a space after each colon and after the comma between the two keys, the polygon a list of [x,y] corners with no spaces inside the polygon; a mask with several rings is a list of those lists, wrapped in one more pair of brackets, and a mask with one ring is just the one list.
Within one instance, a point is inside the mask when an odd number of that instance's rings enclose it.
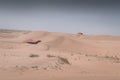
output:
{"label": "pale tan desert sand with dunes and sparse scrub, excluding red object", "polygon": [[120,37],[0,30],[0,80],[63,79],[120,80]]}

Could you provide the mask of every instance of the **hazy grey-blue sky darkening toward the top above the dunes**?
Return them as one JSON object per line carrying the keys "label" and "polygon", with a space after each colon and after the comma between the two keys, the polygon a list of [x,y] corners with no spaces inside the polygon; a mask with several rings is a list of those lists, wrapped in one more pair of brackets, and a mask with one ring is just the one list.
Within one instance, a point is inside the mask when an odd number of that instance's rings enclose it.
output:
{"label": "hazy grey-blue sky darkening toward the top above the dunes", "polygon": [[120,1],[3,0],[0,28],[120,36]]}

